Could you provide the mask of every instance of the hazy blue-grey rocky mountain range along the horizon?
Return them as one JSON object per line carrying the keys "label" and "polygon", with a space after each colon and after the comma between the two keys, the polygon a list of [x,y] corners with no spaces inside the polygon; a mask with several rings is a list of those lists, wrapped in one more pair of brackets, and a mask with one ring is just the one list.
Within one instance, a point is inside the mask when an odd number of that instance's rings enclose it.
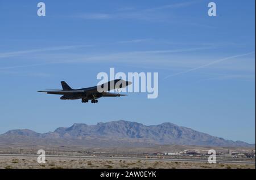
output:
{"label": "hazy blue-grey rocky mountain range along the horizon", "polygon": [[75,123],[53,132],[10,130],[0,135],[0,144],[86,145],[87,147],[149,147],[152,145],[205,145],[217,147],[254,147],[255,144],[225,140],[173,123],[146,126],[129,121],[86,125]]}

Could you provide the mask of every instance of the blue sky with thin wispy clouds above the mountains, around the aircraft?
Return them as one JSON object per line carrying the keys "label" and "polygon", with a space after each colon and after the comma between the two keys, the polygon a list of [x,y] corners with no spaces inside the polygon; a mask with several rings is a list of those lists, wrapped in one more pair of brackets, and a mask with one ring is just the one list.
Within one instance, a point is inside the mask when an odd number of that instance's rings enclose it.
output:
{"label": "blue sky with thin wispy clouds above the mountains, around the aircraft", "polygon": [[[38,1],[39,2],[39,1]],[[0,2],[0,133],[118,119],[172,122],[255,143],[255,1]],[[96,85],[98,72],[158,72],[159,96],[98,104],[36,91]]]}

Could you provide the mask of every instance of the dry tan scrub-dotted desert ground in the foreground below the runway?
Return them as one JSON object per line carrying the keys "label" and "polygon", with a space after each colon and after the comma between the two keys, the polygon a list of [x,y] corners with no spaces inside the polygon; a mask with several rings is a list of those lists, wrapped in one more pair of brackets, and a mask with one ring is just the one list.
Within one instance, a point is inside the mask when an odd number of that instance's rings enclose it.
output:
{"label": "dry tan scrub-dotted desert ground in the foreground below the runway", "polygon": [[92,159],[92,158],[68,158],[68,157],[48,157],[45,164],[39,164],[37,157],[22,157],[22,156],[2,156],[0,157],[1,169],[71,169],[71,168],[164,168],[164,169],[180,169],[180,168],[246,168],[255,169],[255,164],[239,164],[239,163],[216,163],[209,164],[208,162],[178,162],[178,161],[148,161],[148,160],[113,160],[109,159]]}

